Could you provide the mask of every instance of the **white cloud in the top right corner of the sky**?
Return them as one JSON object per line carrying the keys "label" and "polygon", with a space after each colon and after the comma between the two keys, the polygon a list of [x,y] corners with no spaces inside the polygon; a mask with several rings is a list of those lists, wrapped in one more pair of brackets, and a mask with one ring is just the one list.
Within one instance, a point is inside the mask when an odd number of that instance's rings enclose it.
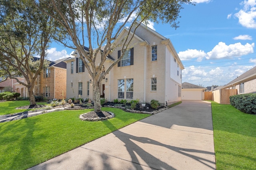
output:
{"label": "white cloud in the top right corner of the sky", "polygon": [[247,28],[256,28],[256,0],[244,0],[240,3],[243,9],[234,14],[239,23]]}

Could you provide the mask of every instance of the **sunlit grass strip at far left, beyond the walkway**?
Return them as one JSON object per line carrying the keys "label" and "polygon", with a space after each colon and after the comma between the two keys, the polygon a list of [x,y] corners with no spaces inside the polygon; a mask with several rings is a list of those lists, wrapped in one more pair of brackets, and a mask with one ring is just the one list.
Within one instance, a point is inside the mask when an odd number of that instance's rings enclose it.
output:
{"label": "sunlit grass strip at far left, beyond the walkway", "polygon": [[[45,105],[46,102],[37,102],[36,104]],[[0,115],[20,113],[23,111],[31,110],[31,109],[15,109],[16,107],[27,106],[27,105],[29,105],[28,100],[0,102]]]}

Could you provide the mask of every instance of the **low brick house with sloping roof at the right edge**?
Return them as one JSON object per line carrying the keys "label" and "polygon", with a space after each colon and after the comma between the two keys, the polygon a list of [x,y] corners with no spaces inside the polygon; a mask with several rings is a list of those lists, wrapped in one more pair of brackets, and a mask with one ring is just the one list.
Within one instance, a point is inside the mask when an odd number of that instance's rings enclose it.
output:
{"label": "low brick house with sloping roof at the right edge", "polygon": [[222,89],[237,89],[238,94],[256,92],[256,67],[238,76]]}

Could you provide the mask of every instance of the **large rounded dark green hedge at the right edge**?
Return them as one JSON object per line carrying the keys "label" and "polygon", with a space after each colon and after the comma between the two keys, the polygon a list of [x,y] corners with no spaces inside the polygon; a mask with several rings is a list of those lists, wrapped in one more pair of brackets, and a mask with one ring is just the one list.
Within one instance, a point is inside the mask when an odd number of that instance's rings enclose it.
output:
{"label": "large rounded dark green hedge at the right edge", "polygon": [[256,114],[256,94],[230,96],[230,104],[245,113]]}

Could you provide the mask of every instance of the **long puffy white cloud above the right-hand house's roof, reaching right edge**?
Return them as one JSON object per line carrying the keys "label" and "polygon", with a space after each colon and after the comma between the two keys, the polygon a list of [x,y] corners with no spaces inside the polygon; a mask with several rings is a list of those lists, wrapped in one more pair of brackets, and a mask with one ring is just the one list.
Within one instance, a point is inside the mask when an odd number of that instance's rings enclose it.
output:
{"label": "long puffy white cloud above the right-hand house's roof, reaching right edge", "polygon": [[207,53],[206,59],[220,59],[223,57],[246,55],[253,53],[253,47],[254,43],[246,43],[246,45],[242,45],[241,43],[226,45],[226,43],[219,42],[212,51]]}

